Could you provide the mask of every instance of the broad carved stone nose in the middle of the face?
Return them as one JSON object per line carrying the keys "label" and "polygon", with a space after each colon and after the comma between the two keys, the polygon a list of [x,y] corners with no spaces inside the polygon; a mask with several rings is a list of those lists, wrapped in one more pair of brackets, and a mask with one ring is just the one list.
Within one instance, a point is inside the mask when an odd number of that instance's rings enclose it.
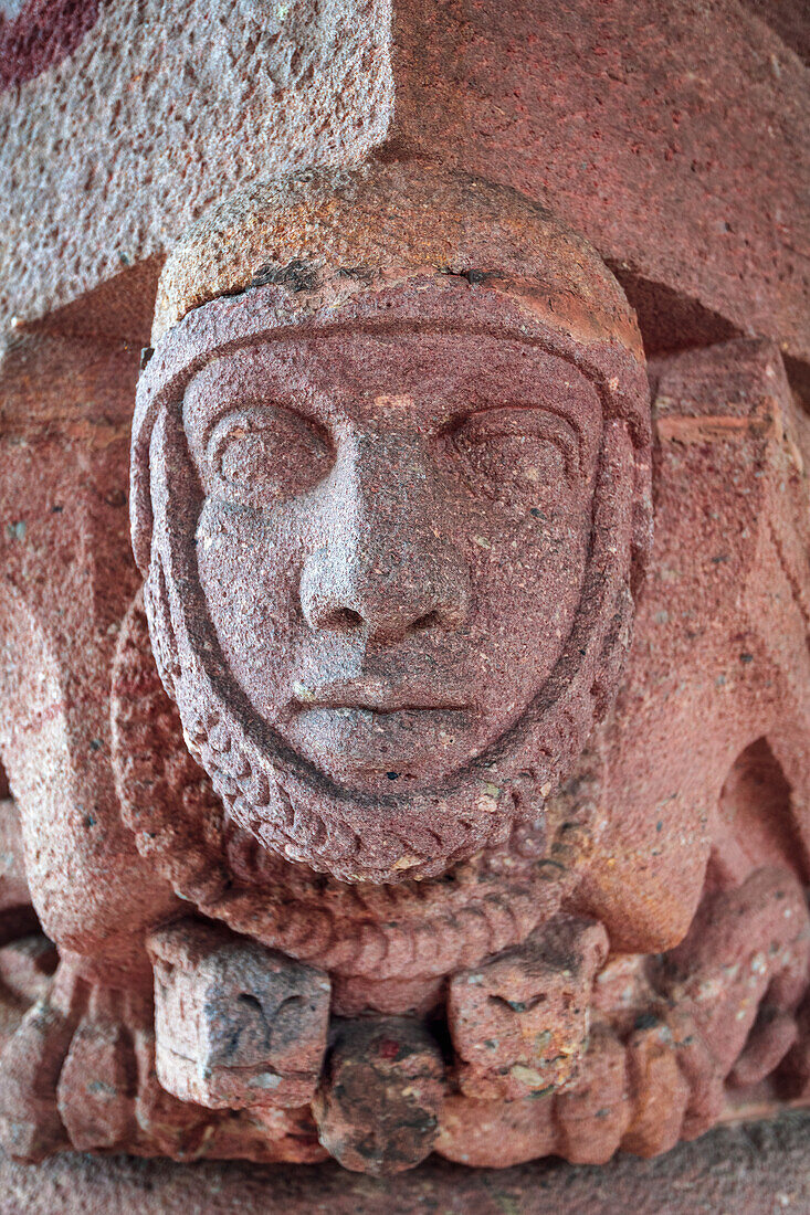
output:
{"label": "broad carved stone nose in the middle of the face", "polygon": [[310,627],[386,642],[459,628],[469,611],[469,571],[438,533],[441,501],[418,452],[366,441],[343,471],[325,543],[302,571]]}

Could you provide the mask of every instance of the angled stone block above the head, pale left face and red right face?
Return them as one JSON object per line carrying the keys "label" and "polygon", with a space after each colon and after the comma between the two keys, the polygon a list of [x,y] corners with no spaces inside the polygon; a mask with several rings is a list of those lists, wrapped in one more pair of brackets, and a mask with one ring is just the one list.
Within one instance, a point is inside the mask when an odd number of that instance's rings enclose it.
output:
{"label": "angled stone block above the head, pale left face and red right face", "polygon": [[558,209],[651,350],[766,335],[806,377],[801,4],[401,0],[393,30],[389,7],[5,0],[0,328],[103,284],[50,323],[145,341],[163,254],[208,203],[388,137]]}

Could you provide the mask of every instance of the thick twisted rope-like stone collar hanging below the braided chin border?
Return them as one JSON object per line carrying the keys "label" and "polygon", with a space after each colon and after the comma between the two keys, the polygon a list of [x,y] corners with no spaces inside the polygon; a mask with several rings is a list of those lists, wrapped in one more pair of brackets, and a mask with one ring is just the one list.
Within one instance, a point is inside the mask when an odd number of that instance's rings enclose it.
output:
{"label": "thick twisted rope-like stone collar hanging below the braided chin border", "polygon": [[[176,673],[171,652],[161,652],[164,678]],[[212,720],[207,738],[221,748],[218,725]],[[590,755],[544,815],[513,825],[504,844],[444,878],[349,885],[268,849],[232,821],[189,751],[158,678],[141,594],[119,637],[112,727],[122,814],[139,852],[203,915],[334,974],[386,981],[476,966],[523,942],[576,885],[595,804],[598,761]],[[220,780],[243,796],[251,778],[237,753],[216,753],[229,757]]]}

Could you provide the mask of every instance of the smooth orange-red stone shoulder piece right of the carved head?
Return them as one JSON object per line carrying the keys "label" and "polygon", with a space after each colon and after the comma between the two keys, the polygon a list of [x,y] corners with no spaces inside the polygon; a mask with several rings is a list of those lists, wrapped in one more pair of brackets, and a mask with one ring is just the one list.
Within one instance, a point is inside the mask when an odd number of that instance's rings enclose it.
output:
{"label": "smooth orange-red stone shoulder piece right of the carved head", "polygon": [[767,740],[791,786],[759,864],[772,848],[806,882],[810,821],[806,416],[770,343],[685,352],[653,363],[652,379],[656,560],[585,877],[590,914],[629,951],[685,936],[709,860],[710,883],[750,872],[747,819],[730,831],[719,807],[752,742]]}

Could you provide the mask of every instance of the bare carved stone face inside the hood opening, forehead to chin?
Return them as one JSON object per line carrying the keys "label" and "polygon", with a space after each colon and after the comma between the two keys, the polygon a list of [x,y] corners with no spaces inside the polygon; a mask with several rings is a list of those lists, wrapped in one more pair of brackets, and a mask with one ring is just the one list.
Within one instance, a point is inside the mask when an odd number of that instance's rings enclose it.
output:
{"label": "bare carved stone face inside the hood opening, forehead to chin", "polygon": [[580,601],[594,385],[471,333],[285,337],[210,361],[182,426],[232,678],[333,781],[444,782],[525,712]]}

